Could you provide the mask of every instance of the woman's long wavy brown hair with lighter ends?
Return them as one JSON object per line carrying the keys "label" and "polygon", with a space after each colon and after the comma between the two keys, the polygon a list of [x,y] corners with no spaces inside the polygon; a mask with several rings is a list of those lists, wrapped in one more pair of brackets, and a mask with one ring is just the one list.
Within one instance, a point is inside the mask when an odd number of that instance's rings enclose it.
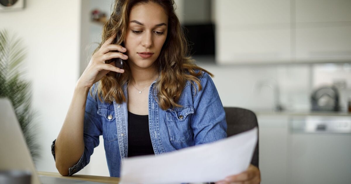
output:
{"label": "woman's long wavy brown hair with lighter ends", "polygon": [[[155,83],[154,89],[157,90],[157,102],[159,106],[166,110],[168,108],[181,107],[177,102],[184,89],[185,83],[189,80],[193,86],[194,82],[201,90],[200,80],[198,76],[201,71],[207,70],[197,66],[195,61],[188,56],[188,42],[185,39],[183,29],[179,19],[175,13],[174,0],[115,0],[113,12],[110,19],[105,23],[102,30],[102,40],[94,53],[97,52],[102,44],[110,38],[114,33],[117,33],[117,39],[114,44],[121,45],[125,40],[129,15],[131,9],[137,4],[146,4],[153,2],[160,5],[168,15],[168,33],[166,41],[161,49],[158,59],[154,62],[158,69],[159,76]],[[111,63],[112,60],[107,60],[105,63]],[[123,86],[129,84],[131,80],[130,68],[128,62],[125,62],[125,72],[117,78],[117,73],[110,71],[102,77],[98,82],[95,93],[98,94],[100,101],[111,103],[116,101],[122,103],[126,101],[123,93]],[[194,86],[195,87],[195,86]]]}

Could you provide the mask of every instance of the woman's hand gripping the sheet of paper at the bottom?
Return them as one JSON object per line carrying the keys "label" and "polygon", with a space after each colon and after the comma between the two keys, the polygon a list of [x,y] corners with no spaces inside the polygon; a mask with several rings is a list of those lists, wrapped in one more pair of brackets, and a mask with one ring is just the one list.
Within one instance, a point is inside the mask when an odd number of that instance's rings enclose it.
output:
{"label": "woman's hand gripping the sheet of paper at the bottom", "polygon": [[251,165],[246,171],[232,175],[216,182],[216,184],[259,184],[261,182],[260,170]]}

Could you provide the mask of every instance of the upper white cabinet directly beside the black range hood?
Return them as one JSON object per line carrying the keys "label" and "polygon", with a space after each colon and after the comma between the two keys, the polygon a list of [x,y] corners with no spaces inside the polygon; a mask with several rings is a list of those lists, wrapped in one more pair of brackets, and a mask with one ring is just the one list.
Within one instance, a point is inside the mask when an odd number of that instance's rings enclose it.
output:
{"label": "upper white cabinet directly beside the black range hood", "polygon": [[220,0],[214,3],[218,63],[290,60],[289,0]]}

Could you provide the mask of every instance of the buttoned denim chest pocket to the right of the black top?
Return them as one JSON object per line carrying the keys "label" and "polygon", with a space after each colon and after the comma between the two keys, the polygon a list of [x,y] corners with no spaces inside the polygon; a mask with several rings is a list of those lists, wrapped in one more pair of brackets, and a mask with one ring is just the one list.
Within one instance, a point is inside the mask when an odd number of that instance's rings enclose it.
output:
{"label": "buttoned denim chest pocket to the right of the black top", "polygon": [[168,109],[166,111],[168,133],[170,140],[185,143],[192,135],[190,128],[191,115],[194,113],[192,106]]}

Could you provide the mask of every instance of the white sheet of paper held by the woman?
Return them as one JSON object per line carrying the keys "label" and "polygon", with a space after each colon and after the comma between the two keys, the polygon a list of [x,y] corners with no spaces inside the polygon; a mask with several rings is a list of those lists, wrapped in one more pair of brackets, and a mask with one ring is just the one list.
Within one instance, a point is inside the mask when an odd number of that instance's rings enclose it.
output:
{"label": "white sheet of paper held by the woman", "polygon": [[245,171],[257,142],[257,128],[217,142],[160,156],[125,159],[121,184],[216,182]]}

